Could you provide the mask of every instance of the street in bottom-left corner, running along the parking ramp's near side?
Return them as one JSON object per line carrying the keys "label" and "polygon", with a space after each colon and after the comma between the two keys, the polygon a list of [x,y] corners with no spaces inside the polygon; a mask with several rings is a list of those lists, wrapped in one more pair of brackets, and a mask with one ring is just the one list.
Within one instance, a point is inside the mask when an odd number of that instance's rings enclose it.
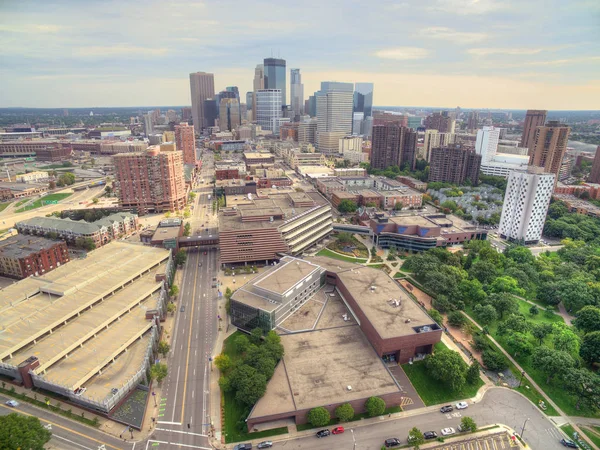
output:
{"label": "street in bottom-left corner, running along the parking ramp's near side", "polygon": [[38,417],[42,422],[42,425],[52,432],[52,439],[46,445],[48,450],[131,450],[134,448],[133,443],[125,442],[122,439],[118,439],[99,430],[65,419],[62,416],[58,416],[43,409],[36,408],[28,403],[19,402],[19,406],[10,408],[5,406],[5,402],[8,399],[9,397],[0,395],[0,402],[2,402],[0,404],[0,416],[15,412]]}

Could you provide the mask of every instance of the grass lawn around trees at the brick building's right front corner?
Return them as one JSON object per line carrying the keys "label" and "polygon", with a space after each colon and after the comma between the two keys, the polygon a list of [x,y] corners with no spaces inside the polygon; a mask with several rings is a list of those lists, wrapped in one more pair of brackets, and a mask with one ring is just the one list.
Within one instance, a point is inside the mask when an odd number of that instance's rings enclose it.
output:
{"label": "grass lawn around trees at the brick building's right front corner", "polygon": [[[444,347],[446,346],[444,345]],[[438,350],[437,344],[436,350]],[[465,384],[465,386],[458,391],[450,390],[439,380],[431,377],[428,369],[425,367],[425,361],[417,361],[413,364],[403,364],[402,369],[406,372],[410,382],[413,384],[426,406],[475,397],[479,388],[483,386],[483,380],[480,378],[476,384]]]}

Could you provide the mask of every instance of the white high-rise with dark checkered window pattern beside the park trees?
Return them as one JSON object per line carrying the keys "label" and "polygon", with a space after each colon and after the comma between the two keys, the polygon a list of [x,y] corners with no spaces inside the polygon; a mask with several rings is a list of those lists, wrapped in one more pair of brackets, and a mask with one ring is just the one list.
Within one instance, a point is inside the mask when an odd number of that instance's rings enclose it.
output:
{"label": "white high-rise with dark checkered window pattern beside the park trees", "polygon": [[510,173],[498,227],[501,237],[524,244],[540,240],[555,179],[537,167]]}

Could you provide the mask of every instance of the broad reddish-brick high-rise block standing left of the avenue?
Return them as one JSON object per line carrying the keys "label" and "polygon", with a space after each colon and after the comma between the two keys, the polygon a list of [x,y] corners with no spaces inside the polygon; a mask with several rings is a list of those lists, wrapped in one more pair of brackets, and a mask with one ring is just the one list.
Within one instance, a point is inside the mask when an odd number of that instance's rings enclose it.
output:
{"label": "broad reddish-brick high-rise block standing left of the avenue", "polygon": [[163,148],[172,146],[157,145],[145,152],[113,156],[121,207],[134,208],[140,215],[185,207],[183,154]]}

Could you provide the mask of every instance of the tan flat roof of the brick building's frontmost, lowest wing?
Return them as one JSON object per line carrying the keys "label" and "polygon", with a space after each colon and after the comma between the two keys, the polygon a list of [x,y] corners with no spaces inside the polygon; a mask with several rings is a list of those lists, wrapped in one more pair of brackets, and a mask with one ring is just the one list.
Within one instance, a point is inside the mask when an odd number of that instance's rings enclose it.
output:
{"label": "tan flat roof of the brick building's frontmost, lowest wing", "polygon": [[284,334],[281,343],[285,354],[251,418],[400,392],[358,325]]}

